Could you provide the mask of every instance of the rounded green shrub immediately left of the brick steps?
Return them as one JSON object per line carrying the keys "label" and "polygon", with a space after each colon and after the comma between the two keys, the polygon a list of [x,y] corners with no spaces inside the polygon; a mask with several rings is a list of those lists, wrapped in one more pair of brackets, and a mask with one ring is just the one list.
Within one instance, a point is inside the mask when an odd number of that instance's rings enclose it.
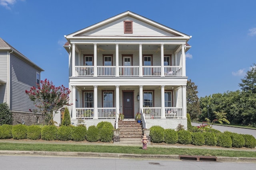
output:
{"label": "rounded green shrub immediately left of the brick steps", "polygon": [[100,122],[97,125],[97,128],[99,129],[99,139],[102,142],[110,142],[113,139],[114,133],[113,129],[114,126],[107,121]]}

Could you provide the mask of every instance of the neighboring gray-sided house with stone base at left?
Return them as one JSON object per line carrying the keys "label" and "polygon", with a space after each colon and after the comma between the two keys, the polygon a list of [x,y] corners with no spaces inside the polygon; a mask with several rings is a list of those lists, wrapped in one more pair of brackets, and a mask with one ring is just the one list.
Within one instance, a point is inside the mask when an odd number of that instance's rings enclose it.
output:
{"label": "neighboring gray-sided house with stone base at left", "polygon": [[9,105],[13,124],[42,122],[40,113],[29,111],[35,107],[25,93],[25,90],[40,83],[42,71],[42,68],[0,38],[0,103]]}

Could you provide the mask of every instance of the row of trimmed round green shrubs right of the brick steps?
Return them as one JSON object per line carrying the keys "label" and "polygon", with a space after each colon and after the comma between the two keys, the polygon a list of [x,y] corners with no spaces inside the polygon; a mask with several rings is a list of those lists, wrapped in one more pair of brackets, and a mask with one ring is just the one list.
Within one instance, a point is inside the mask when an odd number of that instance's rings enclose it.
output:
{"label": "row of trimmed round green shrubs right of the brick steps", "polygon": [[242,135],[228,131],[221,133],[220,131],[207,127],[203,129],[192,127],[191,129],[191,131],[175,131],[174,129],[163,129],[160,126],[152,126],[150,128],[150,137],[153,143],[180,143],[184,145],[207,145],[226,148],[256,147],[256,139],[252,135]]}

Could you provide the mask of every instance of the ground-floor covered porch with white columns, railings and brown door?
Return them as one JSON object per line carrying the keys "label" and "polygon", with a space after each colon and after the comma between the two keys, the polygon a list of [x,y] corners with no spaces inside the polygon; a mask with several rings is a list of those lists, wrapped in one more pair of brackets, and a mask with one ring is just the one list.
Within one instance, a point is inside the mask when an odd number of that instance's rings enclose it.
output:
{"label": "ground-floor covered porch with white columns, railings and brown door", "polygon": [[[186,86],[72,86],[71,120],[86,125],[110,121],[118,128],[119,114],[134,119],[141,113],[144,129],[159,120],[186,118]],[[166,120],[165,120],[166,121]],[[163,121],[162,121],[163,122]],[[150,124],[150,125],[149,125]],[[149,126],[150,127],[149,127]]]}

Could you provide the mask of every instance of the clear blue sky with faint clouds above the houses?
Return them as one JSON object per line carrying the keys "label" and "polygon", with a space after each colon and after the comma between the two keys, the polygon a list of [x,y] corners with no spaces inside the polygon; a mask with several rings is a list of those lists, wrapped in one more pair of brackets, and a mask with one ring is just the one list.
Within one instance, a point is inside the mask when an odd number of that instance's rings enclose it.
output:
{"label": "clear blue sky with faint clouds above the houses", "polygon": [[256,63],[255,0],[0,0],[0,37],[68,87],[68,35],[125,11],[192,38],[186,74],[198,96],[239,90]]}

